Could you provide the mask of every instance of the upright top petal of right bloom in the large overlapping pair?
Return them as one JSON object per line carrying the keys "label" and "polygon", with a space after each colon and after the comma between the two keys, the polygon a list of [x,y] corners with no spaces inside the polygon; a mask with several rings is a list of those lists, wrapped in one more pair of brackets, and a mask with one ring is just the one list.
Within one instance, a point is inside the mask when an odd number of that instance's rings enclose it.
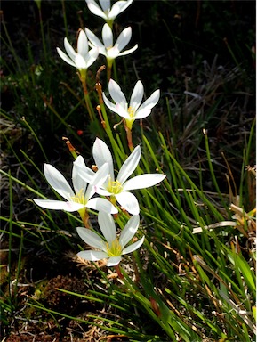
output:
{"label": "upright top petal of right bloom in the large overlapping pair", "polygon": [[100,168],[103,164],[108,163],[109,175],[111,179],[114,179],[113,159],[107,144],[99,138],[96,138],[92,146],[92,155],[97,167]]}

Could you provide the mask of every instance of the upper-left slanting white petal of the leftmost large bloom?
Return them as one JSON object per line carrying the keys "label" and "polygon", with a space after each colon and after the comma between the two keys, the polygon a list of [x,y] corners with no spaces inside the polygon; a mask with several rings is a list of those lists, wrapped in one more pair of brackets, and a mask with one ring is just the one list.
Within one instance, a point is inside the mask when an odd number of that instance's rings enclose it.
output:
{"label": "upper-left slanting white petal of the leftmost large bloom", "polygon": [[44,175],[47,182],[64,199],[70,199],[71,196],[74,196],[74,191],[71,189],[67,180],[55,167],[52,167],[50,164],[44,164]]}

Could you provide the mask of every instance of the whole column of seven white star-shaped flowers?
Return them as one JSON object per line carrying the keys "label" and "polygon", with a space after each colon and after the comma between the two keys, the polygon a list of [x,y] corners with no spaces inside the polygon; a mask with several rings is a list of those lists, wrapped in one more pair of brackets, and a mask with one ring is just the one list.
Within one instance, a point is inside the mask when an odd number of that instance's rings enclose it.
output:
{"label": "whole column of seven white star-shaped flowers", "polygon": [[[159,101],[160,91],[157,89],[146,101],[142,102],[144,87],[138,80],[133,88],[130,102],[127,102],[120,86],[110,77],[110,71],[116,58],[133,53],[138,48],[138,45],[134,45],[132,48],[126,49],[132,38],[131,27],[124,28],[116,38],[116,42],[112,31],[116,16],[124,12],[133,3],[133,0],[116,1],[112,6],[110,0],[99,0],[99,3],[95,0],[85,1],[93,14],[106,21],[101,30],[101,40],[89,28],[80,29],[76,49],[69,44],[65,37],[66,53],[59,47],[57,47],[57,53],[63,61],[78,70],[84,89],[86,108],[91,119],[93,119],[93,113],[87,92],[87,69],[97,60],[99,54],[106,58],[108,94],[105,92],[99,94],[100,109],[105,110],[102,107],[105,104],[109,110],[123,118],[131,154],[124,160],[124,164],[116,173],[115,163],[108,145],[100,138],[96,138],[92,146],[95,167],[87,167],[83,157],[73,153],[75,161],[71,175],[73,187],[71,187],[58,169],[50,164],[44,164],[44,175],[47,182],[62,199],[34,199],[34,201],[37,206],[46,209],[77,211],[84,223],[84,227],[77,227],[77,233],[86,244],[92,247],[92,249],[79,252],[78,256],[90,261],[107,259],[106,265],[117,266],[121,261],[121,256],[140,248],[144,241],[144,236],[142,236],[141,239],[130,243],[135,239],[134,236],[140,226],[140,205],[131,191],[149,188],[165,179],[165,175],[162,174],[141,174],[141,172],[140,175],[132,176],[141,159],[141,146],[133,148],[131,134],[133,122],[136,119],[149,116],[152,108]],[[108,96],[112,101],[108,99]],[[91,210],[99,212],[98,223],[102,236],[92,229]],[[117,231],[115,218],[122,212],[125,212],[129,218],[124,227],[119,222],[121,228]]]}

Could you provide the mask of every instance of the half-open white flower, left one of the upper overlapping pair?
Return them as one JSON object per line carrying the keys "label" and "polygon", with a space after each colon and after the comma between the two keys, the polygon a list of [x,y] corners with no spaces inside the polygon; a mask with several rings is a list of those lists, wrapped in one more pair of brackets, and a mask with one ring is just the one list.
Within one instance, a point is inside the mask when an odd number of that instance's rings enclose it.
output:
{"label": "half-open white flower, left one of the upper overlapping pair", "polygon": [[98,57],[98,49],[92,48],[89,51],[87,37],[84,30],[80,30],[77,38],[77,51],[68,43],[68,39],[64,38],[64,47],[67,52],[63,53],[59,47],[57,47],[57,52],[63,61],[66,61],[69,65],[75,67],[80,72],[88,69],[92,63]]}

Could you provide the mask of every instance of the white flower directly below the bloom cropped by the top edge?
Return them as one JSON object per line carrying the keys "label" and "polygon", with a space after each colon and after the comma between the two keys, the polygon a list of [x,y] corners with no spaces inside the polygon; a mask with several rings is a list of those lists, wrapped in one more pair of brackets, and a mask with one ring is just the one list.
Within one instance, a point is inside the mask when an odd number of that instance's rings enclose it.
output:
{"label": "white flower directly below the bloom cropped by the top edge", "polygon": [[116,57],[124,56],[125,54],[133,53],[138,47],[138,45],[134,45],[133,48],[129,50],[125,50],[122,52],[124,47],[128,45],[132,37],[132,28],[124,28],[119,37],[117,37],[116,44],[113,45],[113,33],[108,24],[105,24],[102,28],[102,41],[92,33],[92,31],[88,28],[85,28],[86,35],[92,46],[98,48],[99,53],[106,56],[108,61],[108,66],[111,66],[112,62],[116,59]]}

